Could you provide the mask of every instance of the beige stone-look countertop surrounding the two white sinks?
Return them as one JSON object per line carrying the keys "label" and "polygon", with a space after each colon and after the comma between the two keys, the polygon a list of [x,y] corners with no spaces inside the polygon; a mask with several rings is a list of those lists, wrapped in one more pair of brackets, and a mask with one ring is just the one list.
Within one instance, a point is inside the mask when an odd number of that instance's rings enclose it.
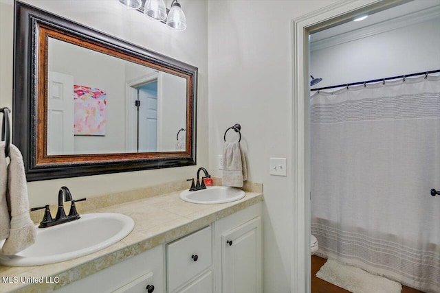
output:
{"label": "beige stone-look countertop surrounding the two white sinks", "polygon": [[[179,194],[173,191],[92,210],[129,215],[135,227],[120,242],[77,259],[44,266],[0,266],[0,292],[52,291],[263,201],[262,187],[256,184],[250,191],[245,189],[241,200],[225,204],[192,204],[181,200]],[[6,277],[17,277],[19,281],[9,283]],[[51,283],[55,277],[58,283]],[[41,278],[43,282],[36,283]]]}

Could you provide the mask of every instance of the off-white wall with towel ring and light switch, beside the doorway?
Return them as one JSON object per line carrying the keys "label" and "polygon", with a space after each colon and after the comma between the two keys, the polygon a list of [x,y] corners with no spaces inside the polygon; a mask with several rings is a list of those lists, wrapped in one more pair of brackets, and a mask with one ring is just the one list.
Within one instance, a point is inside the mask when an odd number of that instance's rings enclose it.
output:
{"label": "off-white wall with towel ring and light switch, beside the doorway", "polygon": [[208,1],[210,171],[241,124],[249,180],[263,183],[264,292],[291,288],[293,174],[270,176],[269,158],[292,160],[292,19],[334,2]]}

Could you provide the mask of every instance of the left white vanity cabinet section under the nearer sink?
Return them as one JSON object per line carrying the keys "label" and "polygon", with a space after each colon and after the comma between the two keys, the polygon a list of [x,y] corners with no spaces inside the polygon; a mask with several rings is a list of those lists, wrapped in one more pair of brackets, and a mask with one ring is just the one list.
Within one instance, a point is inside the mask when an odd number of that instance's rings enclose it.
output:
{"label": "left white vanity cabinet section under the nearer sink", "polygon": [[156,246],[55,292],[164,293],[163,251]]}

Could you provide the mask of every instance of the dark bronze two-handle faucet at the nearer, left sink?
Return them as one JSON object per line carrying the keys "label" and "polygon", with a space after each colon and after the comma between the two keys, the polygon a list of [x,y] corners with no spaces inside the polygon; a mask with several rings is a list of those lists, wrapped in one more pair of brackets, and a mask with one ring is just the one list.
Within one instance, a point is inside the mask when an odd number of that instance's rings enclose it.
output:
{"label": "dark bronze two-handle faucet at the nearer, left sink", "polygon": [[[49,204],[46,204],[44,207],[33,207],[30,209],[31,211],[36,211],[38,209],[45,209],[43,220],[40,222],[39,227],[40,228],[46,228],[50,226],[55,226],[58,224],[63,224],[65,222],[70,222],[74,220],[78,220],[80,218],[80,215],[76,211],[75,202],[80,202],[86,200],[86,198],[81,198],[79,200],[74,200],[72,198],[72,194],[70,193],[69,189],[65,186],[61,187],[58,191],[58,210],[56,211],[55,219],[52,218],[52,215],[50,213]],[[70,211],[69,215],[66,215],[64,211],[64,202],[72,202],[70,204]]]}

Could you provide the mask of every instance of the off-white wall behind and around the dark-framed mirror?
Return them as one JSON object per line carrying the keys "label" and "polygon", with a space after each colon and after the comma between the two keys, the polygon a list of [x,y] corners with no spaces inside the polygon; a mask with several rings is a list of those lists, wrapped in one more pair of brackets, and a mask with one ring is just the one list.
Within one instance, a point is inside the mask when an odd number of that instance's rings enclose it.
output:
{"label": "off-white wall behind and around the dark-framed mirror", "polygon": [[[184,32],[169,30],[163,23],[150,21],[140,12],[126,10],[114,0],[25,2],[199,68],[197,166],[31,182],[28,183],[31,207],[54,204],[58,189],[63,185],[69,187],[75,198],[81,198],[170,180],[186,180],[195,176],[197,167],[208,166],[208,35],[205,1],[179,1],[188,18],[188,28]],[[13,3],[12,0],[0,0],[0,106],[11,108]],[[170,1],[167,1],[167,5],[170,6]]]}

